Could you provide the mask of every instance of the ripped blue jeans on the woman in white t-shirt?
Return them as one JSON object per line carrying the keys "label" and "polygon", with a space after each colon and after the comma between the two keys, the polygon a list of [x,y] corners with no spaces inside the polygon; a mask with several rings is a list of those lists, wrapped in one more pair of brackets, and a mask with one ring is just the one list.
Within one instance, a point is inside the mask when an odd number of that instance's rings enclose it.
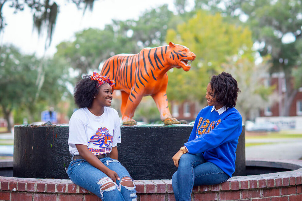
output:
{"label": "ripped blue jeans on the woman in white t-shirt", "polygon": [[[120,181],[124,177],[130,177],[128,171],[120,162],[109,157],[102,158],[100,161],[106,165],[110,170],[113,170],[120,177],[120,180],[116,180],[116,184],[105,190],[101,189],[101,186],[112,183],[112,179],[109,178],[104,172],[100,171],[96,167],[93,167],[84,159],[72,160],[67,169],[67,174],[73,183],[87,189],[88,191],[96,194],[103,201],[113,200],[137,200],[135,186],[127,187],[120,184]],[[132,179],[130,179],[132,180]],[[128,179],[129,181],[129,179]],[[132,180],[133,181],[133,180]]]}

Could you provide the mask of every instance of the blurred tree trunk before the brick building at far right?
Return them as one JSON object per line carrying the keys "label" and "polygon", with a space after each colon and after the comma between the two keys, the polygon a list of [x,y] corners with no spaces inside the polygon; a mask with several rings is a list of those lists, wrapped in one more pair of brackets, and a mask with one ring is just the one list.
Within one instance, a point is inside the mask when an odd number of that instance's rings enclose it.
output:
{"label": "blurred tree trunk before the brick building at far right", "polygon": [[293,83],[291,81],[292,81],[291,74],[285,73],[286,92],[285,92],[285,96],[282,98],[283,99],[282,116],[289,116],[292,101],[294,100],[296,94],[298,93],[298,89],[293,88]]}

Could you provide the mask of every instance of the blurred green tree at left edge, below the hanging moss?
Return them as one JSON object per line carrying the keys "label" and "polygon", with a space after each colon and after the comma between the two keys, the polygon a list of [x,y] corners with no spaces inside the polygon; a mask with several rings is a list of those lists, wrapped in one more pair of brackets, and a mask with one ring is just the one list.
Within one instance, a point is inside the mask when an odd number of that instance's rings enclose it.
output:
{"label": "blurred green tree at left edge, below the hanging moss", "polygon": [[[39,113],[37,108],[55,105],[63,95],[70,94],[66,88],[69,80],[66,63],[59,59],[46,60],[45,74],[38,76],[40,63],[34,55],[22,55],[14,46],[2,46],[0,50],[0,106],[9,131],[13,110],[27,110],[32,122]],[[39,79],[43,80],[41,86]]]}

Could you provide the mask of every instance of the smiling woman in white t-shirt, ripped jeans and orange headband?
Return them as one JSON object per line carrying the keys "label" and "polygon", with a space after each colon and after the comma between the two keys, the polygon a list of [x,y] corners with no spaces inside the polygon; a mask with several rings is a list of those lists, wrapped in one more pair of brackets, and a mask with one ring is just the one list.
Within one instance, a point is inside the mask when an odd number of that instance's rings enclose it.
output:
{"label": "smiling woman in white t-shirt, ripped jeans and orange headband", "polygon": [[120,118],[110,108],[113,84],[96,72],[76,84],[74,98],[80,109],[69,121],[68,145],[73,157],[67,174],[103,201],[136,200],[133,179],[117,160]]}

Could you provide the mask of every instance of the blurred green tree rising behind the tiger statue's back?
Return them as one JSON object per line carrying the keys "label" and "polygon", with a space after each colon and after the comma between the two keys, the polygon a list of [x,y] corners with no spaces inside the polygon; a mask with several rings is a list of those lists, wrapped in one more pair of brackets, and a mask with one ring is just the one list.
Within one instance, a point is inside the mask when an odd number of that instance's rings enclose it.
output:
{"label": "blurred green tree rising behind the tiger statue's back", "polygon": [[[120,53],[137,54],[147,46],[160,46],[165,42],[166,30],[173,13],[167,5],[147,10],[138,20],[113,20],[104,30],[88,29],[76,33],[76,39],[57,46],[56,56],[64,57],[78,76],[99,69],[101,62]],[[172,22],[172,27],[176,26]]]}

